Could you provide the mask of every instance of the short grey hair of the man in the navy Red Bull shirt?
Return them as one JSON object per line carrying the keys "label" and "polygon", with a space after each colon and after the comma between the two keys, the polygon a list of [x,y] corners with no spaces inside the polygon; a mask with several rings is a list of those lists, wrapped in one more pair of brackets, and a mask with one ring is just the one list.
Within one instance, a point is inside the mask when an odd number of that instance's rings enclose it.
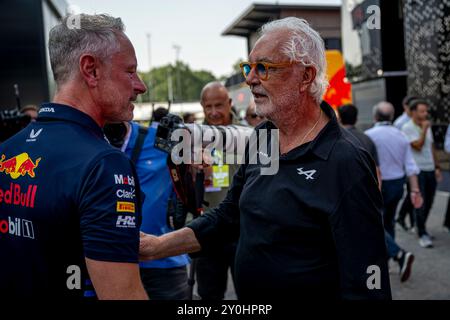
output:
{"label": "short grey hair of the man in the navy Red Bull shirt", "polygon": [[69,19],[73,19],[73,16],[68,15],[50,30],[48,49],[57,85],[76,74],[83,54],[106,59],[120,50],[117,36],[125,29],[120,18],[106,14],[80,14],[77,18],[79,28],[70,26]]}

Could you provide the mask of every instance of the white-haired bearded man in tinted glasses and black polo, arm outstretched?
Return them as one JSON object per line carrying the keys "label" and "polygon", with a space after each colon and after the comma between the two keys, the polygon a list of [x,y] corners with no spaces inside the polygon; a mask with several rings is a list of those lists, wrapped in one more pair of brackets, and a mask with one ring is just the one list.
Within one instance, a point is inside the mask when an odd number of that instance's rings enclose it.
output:
{"label": "white-haired bearded man in tinted glasses and black polo, arm outstretched", "polygon": [[141,235],[142,257],[214,250],[238,230],[239,299],[390,299],[375,165],[321,104],[323,40],[303,19],[270,22],[241,68],[269,120],[260,130],[278,143],[278,172],[241,165],[213,212],[171,234]]}

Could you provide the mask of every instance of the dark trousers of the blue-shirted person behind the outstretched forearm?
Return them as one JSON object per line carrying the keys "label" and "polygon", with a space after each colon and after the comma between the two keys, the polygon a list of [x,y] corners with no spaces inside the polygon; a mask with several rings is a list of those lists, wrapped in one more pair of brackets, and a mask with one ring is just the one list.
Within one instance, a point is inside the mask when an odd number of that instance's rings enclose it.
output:
{"label": "dark trousers of the blue-shirted person behind the outstretched forearm", "polygon": [[186,266],[141,268],[141,280],[151,300],[188,300]]}

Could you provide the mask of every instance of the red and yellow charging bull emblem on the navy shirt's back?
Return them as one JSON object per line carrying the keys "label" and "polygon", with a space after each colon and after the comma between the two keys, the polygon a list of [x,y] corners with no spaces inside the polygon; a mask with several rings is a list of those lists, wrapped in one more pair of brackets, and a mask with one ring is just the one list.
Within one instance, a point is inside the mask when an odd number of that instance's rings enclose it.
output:
{"label": "red and yellow charging bull emblem on the navy shirt's back", "polygon": [[37,168],[39,162],[41,161],[41,158],[37,158],[36,161],[33,162],[26,152],[10,159],[5,159],[6,156],[2,155],[0,159],[0,172],[9,174],[13,179],[17,179],[25,175],[34,178],[36,176],[34,169]]}

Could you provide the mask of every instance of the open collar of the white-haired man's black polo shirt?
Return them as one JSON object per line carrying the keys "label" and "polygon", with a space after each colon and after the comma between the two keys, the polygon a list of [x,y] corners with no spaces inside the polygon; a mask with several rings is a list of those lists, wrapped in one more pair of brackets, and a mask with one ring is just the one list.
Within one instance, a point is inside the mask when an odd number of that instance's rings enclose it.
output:
{"label": "open collar of the white-haired man's black polo shirt", "polygon": [[[314,140],[298,146],[284,155],[280,155],[280,160],[297,159],[310,152],[323,160],[328,159],[334,144],[342,135],[342,131],[333,108],[331,108],[331,106],[325,101],[322,101],[320,108],[324,114],[328,116],[330,121],[328,121]],[[276,126],[270,121],[267,122],[267,127],[269,129],[276,129]]]}

